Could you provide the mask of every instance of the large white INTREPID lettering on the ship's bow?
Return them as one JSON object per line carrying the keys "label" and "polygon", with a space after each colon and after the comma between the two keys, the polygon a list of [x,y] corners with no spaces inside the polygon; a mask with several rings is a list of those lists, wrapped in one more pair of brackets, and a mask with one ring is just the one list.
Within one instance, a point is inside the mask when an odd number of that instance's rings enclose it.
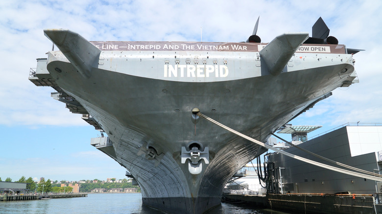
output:
{"label": "large white INTREPID lettering on the ship's bow", "polygon": [[164,65],[164,77],[227,77],[228,73],[227,65]]}

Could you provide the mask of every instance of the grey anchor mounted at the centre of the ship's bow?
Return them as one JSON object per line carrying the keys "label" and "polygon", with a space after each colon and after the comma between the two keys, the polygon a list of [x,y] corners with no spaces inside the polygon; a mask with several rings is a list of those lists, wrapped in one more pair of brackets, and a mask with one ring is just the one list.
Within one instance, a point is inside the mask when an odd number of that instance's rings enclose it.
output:
{"label": "grey anchor mounted at the centre of the ship's bow", "polygon": [[199,142],[191,142],[187,147],[189,150],[186,147],[182,147],[181,163],[184,164],[189,159],[190,173],[200,174],[203,169],[201,160],[203,159],[205,164],[209,163],[208,147],[205,147],[203,150],[203,146]]}

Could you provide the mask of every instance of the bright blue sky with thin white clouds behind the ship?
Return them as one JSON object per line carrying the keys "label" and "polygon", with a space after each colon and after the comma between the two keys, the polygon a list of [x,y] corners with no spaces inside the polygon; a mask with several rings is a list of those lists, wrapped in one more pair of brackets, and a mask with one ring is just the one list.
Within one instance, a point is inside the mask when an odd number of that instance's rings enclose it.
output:
{"label": "bright blue sky with thin white clouds behind the ship", "polygon": [[[359,84],[334,90],[291,123],[382,122],[382,2],[306,0],[2,0],[0,2],[0,177],[51,180],[124,178],[125,170],[90,145],[99,132],[53,100],[49,87],[28,81],[51,42],[46,28],[68,28],[89,41],[241,42],[260,16],[263,42],[285,32],[310,32],[321,16],[339,43],[357,53]],[[284,136],[285,138],[289,136]]]}

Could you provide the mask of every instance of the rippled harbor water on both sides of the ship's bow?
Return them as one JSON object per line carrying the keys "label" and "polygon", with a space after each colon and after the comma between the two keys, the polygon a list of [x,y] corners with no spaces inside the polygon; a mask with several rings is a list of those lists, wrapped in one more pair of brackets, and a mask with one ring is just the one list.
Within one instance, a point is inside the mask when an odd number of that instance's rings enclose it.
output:
{"label": "rippled harbor water on both sides of the ship's bow", "polygon": [[[88,197],[0,202],[1,214],[163,214],[142,206],[141,193],[99,193]],[[222,203],[208,214],[285,214]]]}

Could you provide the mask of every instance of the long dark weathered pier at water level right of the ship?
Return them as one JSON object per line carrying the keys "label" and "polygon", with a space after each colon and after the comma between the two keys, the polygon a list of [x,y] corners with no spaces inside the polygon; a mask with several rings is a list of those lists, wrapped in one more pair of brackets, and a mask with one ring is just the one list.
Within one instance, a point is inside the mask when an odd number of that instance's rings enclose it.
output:
{"label": "long dark weathered pier at water level right of the ship", "polygon": [[[378,198],[378,197],[377,197]],[[382,214],[372,194],[287,193],[246,195],[223,193],[222,201],[245,203],[254,208],[303,214]]]}

